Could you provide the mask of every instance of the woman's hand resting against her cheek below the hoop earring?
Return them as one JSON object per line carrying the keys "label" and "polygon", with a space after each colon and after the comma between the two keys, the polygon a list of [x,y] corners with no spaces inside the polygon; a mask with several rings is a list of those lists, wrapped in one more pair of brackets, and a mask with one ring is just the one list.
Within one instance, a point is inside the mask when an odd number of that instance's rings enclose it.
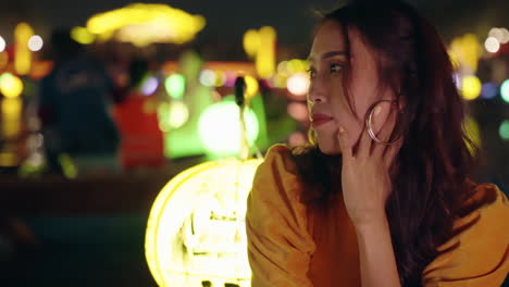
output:
{"label": "woman's hand resting against her cheek below the hoop earring", "polygon": [[[395,112],[389,112],[377,138],[389,138],[395,118]],[[401,141],[389,146],[377,144],[369,136],[365,125],[353,146],[347,144],[348,130],[343,126],[339,126],[337,138],[343,153],[343,197],[350,220],[357,228],[385,222],[385,202],[392,191],[388,171]]]}

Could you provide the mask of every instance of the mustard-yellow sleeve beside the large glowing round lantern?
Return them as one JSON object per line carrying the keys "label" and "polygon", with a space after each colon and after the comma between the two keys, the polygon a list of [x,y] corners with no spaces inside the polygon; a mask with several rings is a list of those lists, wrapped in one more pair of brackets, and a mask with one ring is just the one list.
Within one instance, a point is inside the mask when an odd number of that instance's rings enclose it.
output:
{"label": "mustard-yellow sleeve beside the large glowing round lantern", "polygon": [[312,287],[308,278],[315,246],[307,229],[300,185],[287,170],[289,150],[272,147],[254,175],[246,232],[251,287]]}

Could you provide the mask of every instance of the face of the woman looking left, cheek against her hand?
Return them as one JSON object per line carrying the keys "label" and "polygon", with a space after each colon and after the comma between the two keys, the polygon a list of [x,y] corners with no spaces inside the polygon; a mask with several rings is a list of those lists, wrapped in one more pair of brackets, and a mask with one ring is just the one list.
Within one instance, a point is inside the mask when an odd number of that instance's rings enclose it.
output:
{"label": "face of the woman looking left, cheek against her hand", "polygon": [[[362,42],[356,29],[348,29],[348,34],[349,49],[340,25],[334,21],[324,22],[318,29],[309,55],[311,85],[308,108],[318,145],[326,154],[340,153],[337,141],[339,127],[346,129],[347,142],[352,147],[361,133],[367,133],[363,128],[368,109],[381,96],[386,96],[377,90],[373,52]],[[348,93],[353,111],[348,105],[343,82],[347,64],[350,65]],[[388,109],[382,109],[376,114],[386,115]]]}

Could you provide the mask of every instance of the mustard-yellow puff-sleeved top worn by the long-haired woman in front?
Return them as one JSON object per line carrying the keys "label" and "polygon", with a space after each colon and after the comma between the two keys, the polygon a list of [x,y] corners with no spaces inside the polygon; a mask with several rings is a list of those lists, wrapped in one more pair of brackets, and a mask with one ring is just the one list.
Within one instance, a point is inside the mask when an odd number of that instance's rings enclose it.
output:
{"label": "mustard-yellow puff-sleeved top worn by the long-haired woman in front", "polygon": [[[301,184],[290,151],[271,148],[254,176],[246,228],[252,287],[361,286],[357,238],[343,199],[328,214],[309,212],[299,201]],[[509,202],[497,198],[455,223],[477,220],[440,249],[423,272],[424,287],[495,287],[509,271]],[[482,190],[481,190],[482,191]]]}

